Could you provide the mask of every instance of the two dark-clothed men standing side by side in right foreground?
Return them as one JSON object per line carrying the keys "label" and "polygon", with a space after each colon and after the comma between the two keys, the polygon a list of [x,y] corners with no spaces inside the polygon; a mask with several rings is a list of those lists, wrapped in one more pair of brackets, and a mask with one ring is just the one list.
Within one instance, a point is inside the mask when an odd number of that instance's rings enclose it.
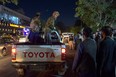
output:
{"label": "two dark-clothed men standing side by side in right foreground", "polygon": [[76,77],[115,77],[116,43],[113,29],[104,26],[92,37],[92,29],[85,27],[83,40],[78,44],[72,71]]}

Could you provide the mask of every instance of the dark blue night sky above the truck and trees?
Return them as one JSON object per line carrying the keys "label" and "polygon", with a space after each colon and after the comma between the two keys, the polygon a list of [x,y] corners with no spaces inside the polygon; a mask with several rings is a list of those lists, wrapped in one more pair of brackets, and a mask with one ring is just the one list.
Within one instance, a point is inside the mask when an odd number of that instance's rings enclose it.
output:
{"label": "dark blue night sky above the truck and trees", "polygon": [[[77,0],[19,0],[18,7],[22,8],[25,15],[32,18],[36,12],[41,12],[41,18],[47,20],[52,12],[57,10],[60,16],[57,21],[62,21],[69,26],[75,22],[75,2]],[[16,9],[12,4],[6,5],[10,8]]]}

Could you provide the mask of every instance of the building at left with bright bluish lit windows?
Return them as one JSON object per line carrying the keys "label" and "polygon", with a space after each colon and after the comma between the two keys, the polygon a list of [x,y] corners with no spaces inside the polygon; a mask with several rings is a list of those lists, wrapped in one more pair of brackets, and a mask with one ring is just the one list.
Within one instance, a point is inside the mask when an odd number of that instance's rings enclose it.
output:
{"label": "building at left with bright bluish lit windows", "polygon": [[[19,34],[23,29],[20,26],[29,26],[29,23],[29,17],[0,5],[0,35],[3,33]],[[18,27],[10,26],[10,24],[17,25]]]}

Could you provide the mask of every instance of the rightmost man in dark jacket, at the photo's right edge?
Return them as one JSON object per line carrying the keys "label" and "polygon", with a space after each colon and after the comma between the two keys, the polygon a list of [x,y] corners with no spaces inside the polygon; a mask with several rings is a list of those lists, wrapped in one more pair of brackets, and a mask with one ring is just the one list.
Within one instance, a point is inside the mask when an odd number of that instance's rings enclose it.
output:
{"label": "rightmost man in dark jacket, at the photo's right edge", "polygon": [[104,26],[102,29],[102,41],[97,51],[98,77],[115,77],[116,44],[111,38],[112,28]]}

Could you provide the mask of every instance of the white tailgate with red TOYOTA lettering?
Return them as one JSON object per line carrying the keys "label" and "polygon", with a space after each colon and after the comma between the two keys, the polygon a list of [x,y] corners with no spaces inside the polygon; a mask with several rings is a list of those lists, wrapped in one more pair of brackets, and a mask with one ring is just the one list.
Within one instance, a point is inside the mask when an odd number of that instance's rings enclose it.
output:
{"label": "white tailgate with red TOYOTA lettering", "polygon": [[12,62],[61,62],[64,45],[16,45]]}

